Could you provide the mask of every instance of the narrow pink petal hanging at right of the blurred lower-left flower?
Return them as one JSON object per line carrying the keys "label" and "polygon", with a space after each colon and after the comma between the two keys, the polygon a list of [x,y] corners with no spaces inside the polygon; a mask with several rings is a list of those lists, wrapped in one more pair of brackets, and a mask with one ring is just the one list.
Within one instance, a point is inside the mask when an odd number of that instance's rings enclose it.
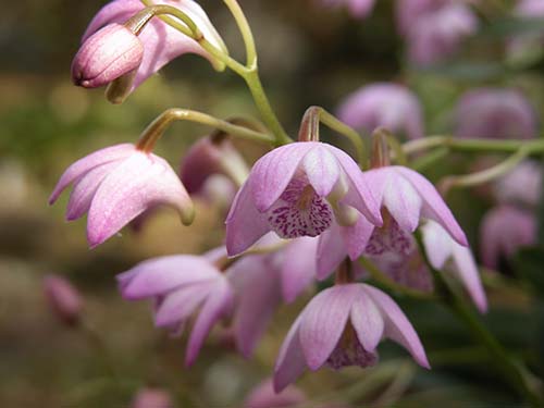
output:
{"label": "narrow pink petal hanging at right of the blurred lower-left flower", "polygon": [[190,333],[185,366],[191,366],[202,347],[202,343],[211,327],[222,317],[227,316],[233,307],[233,292],[226,279],[219,281],[206,300]]}

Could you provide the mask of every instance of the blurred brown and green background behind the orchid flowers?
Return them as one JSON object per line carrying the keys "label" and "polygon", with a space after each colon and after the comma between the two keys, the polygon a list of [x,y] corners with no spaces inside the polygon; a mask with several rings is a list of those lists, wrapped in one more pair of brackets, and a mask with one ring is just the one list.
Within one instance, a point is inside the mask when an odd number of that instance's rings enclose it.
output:
{"label": "blurred brown and green background behind the orchid flowers", "polygon": [[[200,3],[231,52],[243,58],[237,28],[223,3]],[[426,134],[450,134],[459,96],[474,87],[519,89],[542,115],[542,54],[535,50],[530,59],[507,61],[504,40],[520,28],[500,22],[514,2],[482,3],[485,7],[477,10],[480,29],[455,58],[440,66],[418,69],[406,60],[392,0],[378,1],[366,20],[353,17],[344,8],[323,8],[318,0],[240,0],[257,40],[262,82],[292,135],[308,106],[334,112],[347,94],[383,81],[407,85],[417,94]],[[175,213],[163,211],[140,232],[125,228],[89,250],[85,221],[64,221],[69,195],[53,207],[47,205],[70,163],[99,148],[136,140],[170,107],[218,118],[257,115],[238,77],[230,72],[217,74],[207,61],[193,55],[169,64],[122,106],[110,104],[103,89],[73,86],[72,58],[87,23],[102,4],[98,0],[2,4],[0,406],[124,407],[144,386],[166,390],[180,407],[240,406],[245,395],[270,375],[279,346],[309,296],[276,313],[252,360],[232,351],[218,331],[195,367],[185,369],[186,338],[171,339],[154,330],[150,305],[123,301],[114,276],[150,257],[199,254],[220,245],[224,212],[197,202],[195,224],[184,227]],[[176,169],[187,147],[209,132],[176,123],[157,152]],[[257,145],[243,150],[249,159],[263,151]],[[471,158],[455,156],[440,166],[430,166],[426,174],[437,180],[466,172],[470,163]],[[478,249],[479,222],[493,202],[470,190],[455,191],[449,198]],[[544,309],[539,297],[544,286],[540,276],[544,252],[537,248],[526,252],[510,267],[510,275],[502,279],[510,279],[519,269],[530,288],[519,283],[491,287],[493,307],[485,321],[542,374]],[[66,276],[81,290],[86,329],[67,327],[51,312],[42,290],[42,279],[50,273]],[[434,367],[431,372],[415,369],[406,354],[384,345],[381,376],[367,372],[371,370],[321,370],[305,375],[300,387],[312,398],[326,397],[354,407],[391,406],[392,400],[396,407],[520,406],[516,393],[490,369],[485,353],[447,311],[424,302],[404,301],[403,307],[428,349]],[[396,379],[398,372],[403,374]],[[364,382],[367,376],[372,378],[371,386]],[[390,390],[391,384],[396,385]],[[383,391],[388,391],[385,397]]]}

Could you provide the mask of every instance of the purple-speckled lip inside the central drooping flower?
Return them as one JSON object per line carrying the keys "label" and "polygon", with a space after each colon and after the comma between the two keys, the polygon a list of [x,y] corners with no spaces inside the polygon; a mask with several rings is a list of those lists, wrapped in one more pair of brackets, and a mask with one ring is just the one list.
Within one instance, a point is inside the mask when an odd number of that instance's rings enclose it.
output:
{"label": "purple-speckled lip inside the central drooping flower", "polygon": [[318,236],[333,220],[331,206],[316,194],[302,173],[293,177],[267,215],[270,226],[282,238]]}

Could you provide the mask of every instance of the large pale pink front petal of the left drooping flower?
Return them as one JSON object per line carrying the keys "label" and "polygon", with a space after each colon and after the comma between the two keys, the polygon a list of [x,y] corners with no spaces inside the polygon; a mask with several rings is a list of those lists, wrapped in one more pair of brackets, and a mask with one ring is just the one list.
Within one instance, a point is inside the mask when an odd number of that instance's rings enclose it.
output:
{"label": "large pale pink front petal of the left drooping flower", "polygon": [[136,152],[100,184],[89,209],[87,238],[103,243],[145,210],[159,203],[174,207],[190,223],[190,198],[172,168],[154,154]]}

